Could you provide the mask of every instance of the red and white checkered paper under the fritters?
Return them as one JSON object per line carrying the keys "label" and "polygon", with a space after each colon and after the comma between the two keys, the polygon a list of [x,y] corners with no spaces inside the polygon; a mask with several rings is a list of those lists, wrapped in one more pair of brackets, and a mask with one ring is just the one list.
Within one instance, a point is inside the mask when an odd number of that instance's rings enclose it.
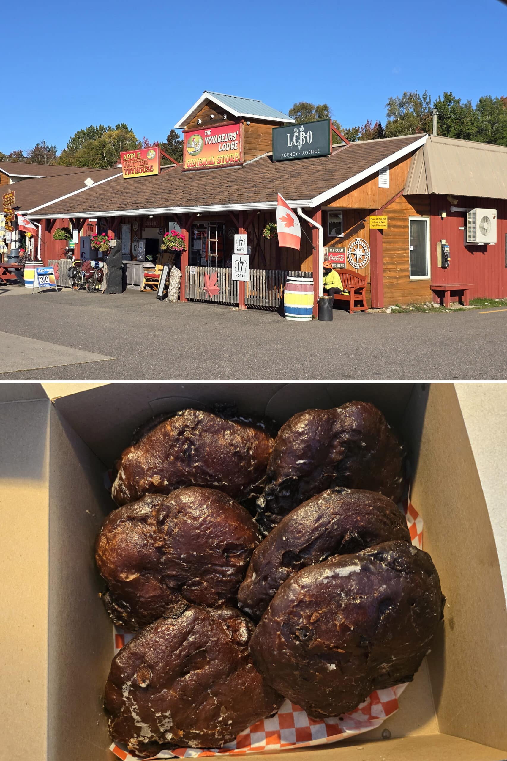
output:
{"label": "red and white checkered paper under the fritters", "polygon": [[[412,544],[423,549],[423,519],[411,504],[404,502],[404,514],[412,538]],[[115,629],[115,653],[134,635]],[[375,729],[385,718],[398,711],[398,697],[406,684],[398,684],[389,689],[376,689],[365,702],[354,711],[337,718],[320,721],[310,718],[290,700],[285,700],[277,715],[261,719],[243,732],[232,743],[221,748],[176,748],[162,750],[154,759],[201,758],[201,756],[239,756],[245,753],[263,753],[273,750],[302,748],[309,745],[325,745],[347,740],[354,734],[361,734]],[[125,747],[112,743],[112,753],[122,761],[136,761]]]}

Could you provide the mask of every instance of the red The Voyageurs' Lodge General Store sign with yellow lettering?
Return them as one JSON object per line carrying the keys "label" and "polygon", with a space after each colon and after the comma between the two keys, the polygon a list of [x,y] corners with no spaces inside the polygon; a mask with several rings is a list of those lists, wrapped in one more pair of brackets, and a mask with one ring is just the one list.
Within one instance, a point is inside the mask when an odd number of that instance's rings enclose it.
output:
{"label": "red The Voyageurs' Lodge General Store sign with yellow lettering", "polygon": [[214,169],[242,164],[243,125],[196,129],[183,135],[183,166],[187,169]]}

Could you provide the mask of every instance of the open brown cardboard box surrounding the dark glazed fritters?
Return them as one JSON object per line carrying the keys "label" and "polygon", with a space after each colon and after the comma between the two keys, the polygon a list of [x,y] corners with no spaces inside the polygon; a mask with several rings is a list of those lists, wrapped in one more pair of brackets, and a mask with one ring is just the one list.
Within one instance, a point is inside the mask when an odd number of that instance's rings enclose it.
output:
{"label": "open brown cardboard box surrounding the dark glazed fritters", "polygon": [[380,728],[289,753],[303,761],[507,757],[505,597],[451,384],[109,384],[52,401],[40,384],[0,384],[2,753],[11,761],[112,761],[102,711],[112,624],[98,596],[93,540],[113,508],[104,471],[134,428],[217,401],[282,423],[300,409],[351,399],[375,403],[407,441],[424,548],[447,597],[445,624],[400,710]]}

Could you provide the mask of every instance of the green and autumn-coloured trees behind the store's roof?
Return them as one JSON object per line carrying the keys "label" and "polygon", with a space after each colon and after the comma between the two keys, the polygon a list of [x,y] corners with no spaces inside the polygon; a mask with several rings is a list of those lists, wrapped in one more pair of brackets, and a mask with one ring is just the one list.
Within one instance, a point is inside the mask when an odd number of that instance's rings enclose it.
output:
{"label": "green and autumn-coloured trees behind the store's roof", "polygon": [[[448,138],[474,140],[507,146],[507,97],[480,97],[475,106],[471,100],[462,101],[452,92],[445,92],[442,97],[432,100],[425,91],[404,92],[403,95],[390,97],[385,104],[385,123],[379,119],[367,119],[357,126],[342,126],[337,119],[332,119],[328,103],[294,103],[289,116],[296,123],[312,122],[316,119],[331,119],[336,129],[350,142],[398,137],[398,135],[417,135],[433,130],[433,109],[437,110],[437,133]],[[333,133],[333,142],[340,139]],[[0,161],[22,161],[31,164],[62,164],[67,167],[94,167],[106,169],[119,162],[121,151],[133,151],[148,145],[160,145],[164,153],[176,161],[183,161],[183,141],[176,129],[171,129],[165,141],[139,140],[132,129],[124,122],[116,126],[90,125],[79,129],[69,139],[59,154],[55,145],[46,140],[37,142],[28,151],[0,151]],[[163,159],[162,163],[170,163]]]}

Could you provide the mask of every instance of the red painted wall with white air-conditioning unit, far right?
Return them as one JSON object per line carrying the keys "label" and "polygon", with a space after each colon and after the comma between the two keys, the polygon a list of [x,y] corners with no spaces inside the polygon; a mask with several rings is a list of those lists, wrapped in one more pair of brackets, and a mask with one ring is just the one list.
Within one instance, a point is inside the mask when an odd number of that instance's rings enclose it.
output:
{"label": "red painted wall with white air-conditioning unit, far right", "polygon": [[[431,196],[432,282],[471,283],[470,298],[507,297],[507,201],[461,196],[452,205],[467,209],[496,209],[496,244],[465,246],[464,231],[459,228],[466,224],[467,212],[451,212],[451,202],[445,196]],[[440,218],[439,212],[446,212],[444,219]],[[442,269],[436,263],[436,244],[439,240],[446,240],[450,247],[448,269]]]}

